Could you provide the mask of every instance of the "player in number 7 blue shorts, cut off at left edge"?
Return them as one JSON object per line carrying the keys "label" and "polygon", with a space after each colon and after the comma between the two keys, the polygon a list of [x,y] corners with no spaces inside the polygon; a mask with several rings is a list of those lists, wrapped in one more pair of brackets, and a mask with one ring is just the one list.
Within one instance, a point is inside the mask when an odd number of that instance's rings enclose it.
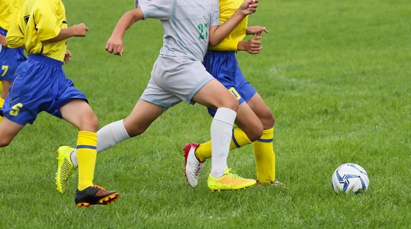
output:
{"label": "player in number 7 blue shorts, cut off at left edge", "polygon": [[[14,71],[19,64],[26,60],[23,49],[7,47],[5,36],[18,10],[25,0],[0,1],[0,109],[3,108],[10,85],[14,81]],[[0,122],[2,117],[0,117]]]}

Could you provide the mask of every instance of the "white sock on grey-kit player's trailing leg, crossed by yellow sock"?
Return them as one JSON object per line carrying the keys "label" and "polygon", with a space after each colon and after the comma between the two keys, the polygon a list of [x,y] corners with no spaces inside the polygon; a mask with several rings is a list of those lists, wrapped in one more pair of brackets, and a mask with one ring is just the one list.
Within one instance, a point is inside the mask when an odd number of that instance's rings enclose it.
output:
{"label": "white sock on grey-kit player's trailing leg, crossed by yellow sock", "polygon": [[[102,152],[105,149],[109,149],[117,143],[121,143],[122,141],[125,141],[129,138],[130,136],[125,130],[123,119],[105,125],[99,131],[97,131],[97,153]],[[73,162],[73,165],[77,167],[78,162],[76,149],[73,151],[73,153],[71,153],[70,159],[71,162]]]}

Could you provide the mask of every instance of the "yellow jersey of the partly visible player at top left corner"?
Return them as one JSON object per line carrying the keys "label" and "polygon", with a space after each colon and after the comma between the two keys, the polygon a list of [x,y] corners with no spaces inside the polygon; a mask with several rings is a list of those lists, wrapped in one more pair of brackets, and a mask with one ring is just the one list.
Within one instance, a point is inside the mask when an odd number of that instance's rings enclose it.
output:
{"label": "yellow jersey of the partly visible player at top left corner", "polygon": [[0,1],[0,27],[8,30],[10,22],[21,9],[25,0],[1,0]]}

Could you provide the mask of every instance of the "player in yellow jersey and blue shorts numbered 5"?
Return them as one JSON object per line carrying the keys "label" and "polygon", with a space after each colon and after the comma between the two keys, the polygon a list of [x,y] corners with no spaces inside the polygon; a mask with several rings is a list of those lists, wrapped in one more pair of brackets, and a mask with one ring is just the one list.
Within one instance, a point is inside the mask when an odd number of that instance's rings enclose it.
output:
{"label": "player in yellow jersey and blue shorts numbered 5", "polygon": [[66,51],[66,39],[86,36],[87,30],[84,24],[67,27],[66,12],[60,0],[27,0],[24,3],[6,39],[10,48],[25,46],[29,58],[16,70],[0,123],[0,147],[9,145],[42,111],[65,119],[79,129],[79,184],[75,193],[79,207],[109,204],[119,197],[117,191],[105,191],[92,183],[99,121],[84,94],[66,78],[62,69],[63,61],[71,56]]}

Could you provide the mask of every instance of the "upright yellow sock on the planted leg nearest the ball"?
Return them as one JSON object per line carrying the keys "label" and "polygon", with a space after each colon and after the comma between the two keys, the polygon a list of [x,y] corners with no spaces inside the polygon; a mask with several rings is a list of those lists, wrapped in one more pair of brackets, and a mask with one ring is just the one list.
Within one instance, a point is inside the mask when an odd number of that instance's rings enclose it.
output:
{"label": "upright yellow sock on the planted leg nearest the ball", "polygon": [[257,179],[260,184],[275,181],[275,154],[273,149],[274,128],[264,130],[260,139],[253,143],[256,157]]}

